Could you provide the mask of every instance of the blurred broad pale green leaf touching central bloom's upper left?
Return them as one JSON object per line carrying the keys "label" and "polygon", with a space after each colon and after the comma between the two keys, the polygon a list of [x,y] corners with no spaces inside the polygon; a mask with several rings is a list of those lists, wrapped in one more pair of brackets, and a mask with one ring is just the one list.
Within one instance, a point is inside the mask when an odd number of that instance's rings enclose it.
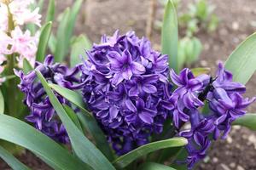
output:
{"label": "blurred broad pale green leaf touching central bloom's upper left", "polygon": [[85,58],[87,56],[85,55],[85,49],[89,50],[90,48],[91,43],[86,36],[80,35],[79,37],[76,37],[71,47],[70,65],[73,67],[81,63],[80,57],[82,56]]}

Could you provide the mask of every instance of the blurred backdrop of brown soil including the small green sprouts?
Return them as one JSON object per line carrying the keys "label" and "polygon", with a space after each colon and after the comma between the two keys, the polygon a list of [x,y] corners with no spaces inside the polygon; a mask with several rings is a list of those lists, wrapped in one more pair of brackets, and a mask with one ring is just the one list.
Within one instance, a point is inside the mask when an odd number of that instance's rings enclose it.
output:
{"label": "blurred backdrop of brown soil including the small green sprouts", "polygon": [[[55,0],[55,31],[61,22],[57,17],[73,0]],[[112,35],[136,31],[148,37],[160,50],[160,29],[165,0],[84,0],[76,22],[74,35],[86,34],[90,42],[100,42],[103,34]],[[175,0],[179,17],[179,53],[181,67],[209,67],[211,72],[224,61],[247,36],[256,31],[256,1],[254,0]],[[43,20],[48,1],[43,8]],[[255,44],[256,45],[256,44]],[[256,66],[256,65],[255,65]],[[247,96],[256,94],[256,75],[247,83]],[[256,104],[249,112],[256,112]],[[28,166],[50,169],[34,156],[20,157]],[[31,157],[31,158],[30,158]],[[244,127],[233,127],[226,140],[212,144],[200,170],[255,170],[256,133]],[[27,162],[30,160],[29,162]],[[1,163],[1,169],[4,168]]]}

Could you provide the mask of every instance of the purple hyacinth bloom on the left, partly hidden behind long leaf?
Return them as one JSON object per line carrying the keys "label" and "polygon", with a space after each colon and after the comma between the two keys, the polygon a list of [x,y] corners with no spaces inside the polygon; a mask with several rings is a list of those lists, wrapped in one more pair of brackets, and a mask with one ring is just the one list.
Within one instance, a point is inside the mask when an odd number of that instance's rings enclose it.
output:
{"label": "purple hyacinth bloom on the left, partly hidden behind long leaf", "polygon": [[[78,84],[79,78],[76,77],[79,73],[79,68],[74,67],[72,70],[69,70],[66,65],[54,64],[53,59],[53,56],[47,56],[44,64],[36,63],[35,69],[42,73],[47,82],[69,89],[80,88]],[[20,77],[19,88],[26,94],[24,103],[31,111],[31,114],[26,116],[26,120],[34,123],[38,130],[50,138],[66,144],[69,141],[67,132],[58,119],[55,109],[50,104],[43,85],[38,81],[36,72],[30,71],[28,74],[25,74],[22,71],[15,71],[15,74]],[[55,95],[61,104],[70,105],[67,99],[64,99],[61,95],[56,93]]]}

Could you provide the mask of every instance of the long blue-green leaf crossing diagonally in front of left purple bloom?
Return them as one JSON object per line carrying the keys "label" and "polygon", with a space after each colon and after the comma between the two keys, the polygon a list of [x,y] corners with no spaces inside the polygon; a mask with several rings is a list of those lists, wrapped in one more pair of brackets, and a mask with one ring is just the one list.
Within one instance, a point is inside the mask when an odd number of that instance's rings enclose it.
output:
{"label": "long blue-green leaf crossing diagonally in front of left purple bloom", "polygon": [[94,144],[87,139],[84,134],[79,130],[78,127],[73,123],[73,121],[67,116],[66,111],[62,107],[59,100],[56,98],[55,94],[49,88],[48,83],[44,79],[43,75],[40,71],[36,71],[39,80],[42,82],[44,86],[44,90],[49,97],[49,100],[55,111],[57,112],[58,116],[61,119],[64,127],[67,130],[69,139],[71,140],[71,144],[73,146],[73,150],[75,151],[76,155],[84,161],[88,163],[91,167],[96,170],[111,170],[114,169],[112,164],[108,161],[108,159],[102,154],[100,150],[96,148]]}

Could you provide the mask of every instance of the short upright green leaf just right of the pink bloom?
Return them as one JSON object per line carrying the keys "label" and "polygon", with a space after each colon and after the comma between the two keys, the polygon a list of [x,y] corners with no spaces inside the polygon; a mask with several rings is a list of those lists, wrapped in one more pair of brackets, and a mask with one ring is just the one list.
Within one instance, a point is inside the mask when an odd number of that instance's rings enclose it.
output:
{"label": "short upright green leaf just right of the pink bloom", "polygon": [[44,61],[45,53],[48,47],[49,36],[51,33],[51,27],[52,27],[52,22],[49,21],[41,29],[39,43],[38,43],[38,52],[37,52],[37,61],[39,62]]}

